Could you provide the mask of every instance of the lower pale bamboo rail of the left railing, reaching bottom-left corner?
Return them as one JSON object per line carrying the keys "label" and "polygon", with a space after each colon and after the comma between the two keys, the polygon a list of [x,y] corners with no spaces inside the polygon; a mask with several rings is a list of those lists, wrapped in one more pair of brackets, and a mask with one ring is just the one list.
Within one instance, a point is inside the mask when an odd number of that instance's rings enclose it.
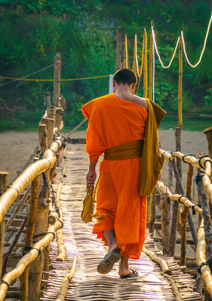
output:
{"label": "lower pale bamboo rail of the left railing, reaching bottom-left corner", "polygon": [[49,245],[49,243],[54,239],[55,231],[62,227],[62,223],[60,221],[55,222],[55,224],[49,226],[47,230],[47,234],[39,240],[36,244],[33,245],[33,249],[30,250],[26,255],[24,255],[16,267],[5,274],[2,278],[2,283],[0,284],[0,301],[3,301],[8,290],[8,285],[11,281],[21,276],[27,267],[34,259],[38,257],[40,251],[42,251],[45,247]]}

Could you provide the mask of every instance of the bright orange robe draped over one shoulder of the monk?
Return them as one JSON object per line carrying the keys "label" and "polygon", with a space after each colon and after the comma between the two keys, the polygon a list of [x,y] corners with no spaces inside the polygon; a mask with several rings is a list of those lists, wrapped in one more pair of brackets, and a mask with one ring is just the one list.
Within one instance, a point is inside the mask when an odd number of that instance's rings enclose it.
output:
{"label": "bright orange robe draped over one shoulder of the monk", "polygon": [[[82,112],[89,120],[86,151],[90,162],[110,147],[144,138],[147,111],[114,93],[88,102]],[[147,203],[146,197],[139,195],[140,161],[101,161],[97,212],[107,218],[93,227],[93,233],[105,244],[102,231],[114,229],[121,255],[131,258],[140,257],[145,240]]]}

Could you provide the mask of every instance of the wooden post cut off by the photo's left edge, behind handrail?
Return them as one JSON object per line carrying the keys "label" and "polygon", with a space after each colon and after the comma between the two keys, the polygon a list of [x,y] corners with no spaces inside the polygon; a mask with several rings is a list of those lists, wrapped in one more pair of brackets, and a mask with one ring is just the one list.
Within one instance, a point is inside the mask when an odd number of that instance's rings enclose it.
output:
{"label": "wooden post cut off by the photo's left edge, behind handrail", "polygon": [[[5,192],[8,185],[8,172],[0,172],[0,195]],[[0,223],[0,278],[2,278],[2,258],[4,248],[5,222]]]}

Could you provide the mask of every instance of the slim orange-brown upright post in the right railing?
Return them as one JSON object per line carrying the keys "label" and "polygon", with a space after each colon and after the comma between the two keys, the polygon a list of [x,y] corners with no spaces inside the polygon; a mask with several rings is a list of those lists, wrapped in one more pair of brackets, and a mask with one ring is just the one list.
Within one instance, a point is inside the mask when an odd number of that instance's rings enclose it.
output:
{"label": "slim orange-brown upright post in the right railing", "polygon": [[[194,167],[191,163],[188,163],[188,173],[186,182],[186,196],[191,196],[192,187],[192,177],[193,177]],[[188,216],[188,207],[184,205],[183,211],[181,213],[181,246],[180,246],[180,265],[186,265],[186,219]]]}

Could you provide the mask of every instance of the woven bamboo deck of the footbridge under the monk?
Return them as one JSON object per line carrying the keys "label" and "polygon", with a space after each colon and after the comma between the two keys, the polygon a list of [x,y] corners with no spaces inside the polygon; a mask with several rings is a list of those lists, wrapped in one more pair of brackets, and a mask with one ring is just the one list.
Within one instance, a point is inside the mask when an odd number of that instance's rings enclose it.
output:
{"label": "woven bamboo deck of the footbridge under the monk", "polygon": [[[85,224],[81,220],[82,200],[85,196],[85,176],[88,168],[88,157],[85,144],[68,144],[65,157],[65,185],[61,191],[61,207],[63,212],[63,235],[66,249],[64,262],[55,261],[58,256],[56,238],[50,247],[50,264],[48,288],[41,300],[55,300],[62,283],[62,279],[71,268],[73,257],[77,256],[74,278],[69,283],[65,300],[175,300],[170,282],[161,275],[161,267],[150,257],[141,253],[139,260],[130,259],[129,267],[138,271],[139,277],[120,279],[118,263],[107,275],[97,272],[97,265],[107,253],[107,247],[92,234],[93,222]],[[62,168],[56,172],[62,175]],[[53,187],[56,190],[60,176],[55,179]],[[148,230],[147,230],[148,232]],[[182,300],[200,300],[194,292],[195,280],[188,274],[183,274],[172,257],[163,256],[155,247],[155,243],[146,233],[145,247],[167,262],[173,273]]]}

